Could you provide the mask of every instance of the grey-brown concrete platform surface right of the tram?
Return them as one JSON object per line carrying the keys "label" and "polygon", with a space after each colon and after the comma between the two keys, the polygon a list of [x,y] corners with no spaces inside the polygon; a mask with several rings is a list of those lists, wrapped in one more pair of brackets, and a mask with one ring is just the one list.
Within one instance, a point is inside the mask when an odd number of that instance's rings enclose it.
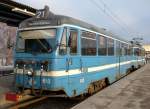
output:
{"label": "grey-brown concrete platform surface right of the tram", "polygon": [[115,82],[72,109],[150,109],[150,64]]}

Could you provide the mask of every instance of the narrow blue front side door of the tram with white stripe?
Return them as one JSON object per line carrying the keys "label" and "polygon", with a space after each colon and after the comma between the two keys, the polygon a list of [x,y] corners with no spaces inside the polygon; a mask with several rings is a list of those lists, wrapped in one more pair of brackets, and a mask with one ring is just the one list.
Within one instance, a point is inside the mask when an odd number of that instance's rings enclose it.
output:
{"label": "narrow blue front side door of the tram with white stripe", "polygon": [[71,87],[79,88],[77,85],[78,82],[84,83],[82,80],[84,76],[81,72],[82,60],[79,55],[79,31],[75,28],[69,29],[68,35],[68,57],[67,57],[67,71],[68,71],[68,82]]}

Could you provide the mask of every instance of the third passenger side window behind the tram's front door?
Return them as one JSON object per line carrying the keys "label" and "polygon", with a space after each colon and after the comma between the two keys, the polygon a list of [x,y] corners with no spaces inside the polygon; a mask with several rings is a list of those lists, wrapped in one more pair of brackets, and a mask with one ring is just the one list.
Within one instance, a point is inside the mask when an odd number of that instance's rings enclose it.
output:
{"label": "third passenger side window behind the tram's front door", "polygon": [[107,46],[108,46],[108,55],[114,55],[114,40],[108,38]]}

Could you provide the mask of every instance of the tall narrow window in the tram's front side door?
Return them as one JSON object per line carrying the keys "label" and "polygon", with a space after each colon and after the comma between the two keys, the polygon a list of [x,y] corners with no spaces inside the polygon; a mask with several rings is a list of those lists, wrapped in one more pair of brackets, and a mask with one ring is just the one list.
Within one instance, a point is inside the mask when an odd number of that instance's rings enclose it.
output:
{"label": "tall narrow window in the tram's front side door", "polygon": [[68,46],[70,47],[70,54],[76,55],[77,54],[77,37],[78,32],[77,30],[70,30],[70,36],[68,39]]}

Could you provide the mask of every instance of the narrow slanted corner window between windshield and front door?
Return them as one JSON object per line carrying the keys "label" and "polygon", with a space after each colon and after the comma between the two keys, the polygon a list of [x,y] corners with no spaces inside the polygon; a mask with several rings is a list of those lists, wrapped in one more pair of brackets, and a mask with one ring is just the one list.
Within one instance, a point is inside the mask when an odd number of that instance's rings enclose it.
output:
{"label": "narrow slanted corner window between windshield and front door", "polygon": [[59,54],[60,55],[65,55],[67,53],[66,37],[67,37],[67,28],[64,28],[61,43],[59,46]]}

